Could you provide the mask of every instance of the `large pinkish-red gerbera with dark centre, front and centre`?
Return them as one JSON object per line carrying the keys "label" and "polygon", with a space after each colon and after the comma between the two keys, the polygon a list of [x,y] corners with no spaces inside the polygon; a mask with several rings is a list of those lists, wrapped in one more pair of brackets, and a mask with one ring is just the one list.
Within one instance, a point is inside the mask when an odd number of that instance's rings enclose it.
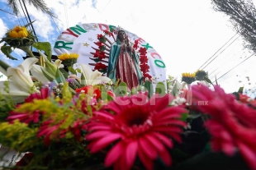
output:
{"label": "large pinkish-red gerbera with dark centre, front and centre", "polygon": [[153,169],[153,161],[158,157],[169,166],[171,157],[167,148],[173,147],[173,141],[168,136],[181,142],[180,126],[186,125],[178,119],[186,110],[168,107],[172,99],[168,94],[163,98],[156,94],[148,100],[143,93],[116,98],[105,110],[93,112],[94,117],[88,123],[88,131],[92,133],[86,136],[90,141],[88,149],[96,153],[112,145],[105,166],[114,165],[116,170],[130,169],[137,155],[147,169]]}

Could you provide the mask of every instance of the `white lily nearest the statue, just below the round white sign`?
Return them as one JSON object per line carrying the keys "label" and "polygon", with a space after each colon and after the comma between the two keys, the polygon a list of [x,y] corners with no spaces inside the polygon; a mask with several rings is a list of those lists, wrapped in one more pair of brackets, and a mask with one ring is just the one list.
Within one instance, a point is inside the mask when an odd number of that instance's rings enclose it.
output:
{"label": "white lily nearest the statue, just below the round white sign", "polygon": [[111,79],[107,76],[102,76],[102,72],[100,71],[92,71],[91,67],[86,64],[78,64],[80,66],[80,70],[85,77],[86,85],[99,85],[101,83],[111,83]]}

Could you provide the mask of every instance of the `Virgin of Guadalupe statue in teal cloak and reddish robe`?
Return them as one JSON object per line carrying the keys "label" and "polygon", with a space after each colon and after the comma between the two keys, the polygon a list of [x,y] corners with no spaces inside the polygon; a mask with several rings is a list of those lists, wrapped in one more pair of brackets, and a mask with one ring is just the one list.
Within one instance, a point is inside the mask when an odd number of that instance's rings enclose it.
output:
{"label": "Virgin of Guadalupe statue in teal cloak and reddish robe", "polygon": [[130,45],[126,31],[117,30],[116,42],[111,44],[109,53],[107,76],[113,81],[124,81],[131,90],[141,85],[144,80],[140,71],[140,58],[135,48]]}

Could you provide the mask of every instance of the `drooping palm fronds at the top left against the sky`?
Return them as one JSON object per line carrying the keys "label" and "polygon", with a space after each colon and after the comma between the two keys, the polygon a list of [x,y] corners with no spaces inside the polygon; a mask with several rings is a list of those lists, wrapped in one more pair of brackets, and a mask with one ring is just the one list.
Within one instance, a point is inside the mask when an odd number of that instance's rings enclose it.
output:
{"label": "drooping palm fronds at the top left against the sky", "polygon": [[45,12],[46,14],[50,15],[51,17],[55,17],[50,8],[46,6],[44,0],[7,0],[9,7],[12,8],[13,12],[17,15],[19,13],[18,6],[21,5],[21,1],[25,5],[29,3],[30,5],[36,7],[36,9]]}

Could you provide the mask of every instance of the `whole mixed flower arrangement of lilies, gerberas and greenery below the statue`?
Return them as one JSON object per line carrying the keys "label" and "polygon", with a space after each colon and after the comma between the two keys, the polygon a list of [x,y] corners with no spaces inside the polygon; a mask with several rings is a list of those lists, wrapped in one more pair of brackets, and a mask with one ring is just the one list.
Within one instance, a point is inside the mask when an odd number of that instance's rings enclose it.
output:
{"label": "whole mixed flower arrangement of lilies, gerberas and greenery below the statue", "polygon": [[2,168],[256,169],[255,100],[209,89],[205,71],[128,90],[86,64],[65,71],[77,54],[53,62],[37,47],[17,67],[0,62],[0,144],[17,152],[10,163],[0,149]]}

